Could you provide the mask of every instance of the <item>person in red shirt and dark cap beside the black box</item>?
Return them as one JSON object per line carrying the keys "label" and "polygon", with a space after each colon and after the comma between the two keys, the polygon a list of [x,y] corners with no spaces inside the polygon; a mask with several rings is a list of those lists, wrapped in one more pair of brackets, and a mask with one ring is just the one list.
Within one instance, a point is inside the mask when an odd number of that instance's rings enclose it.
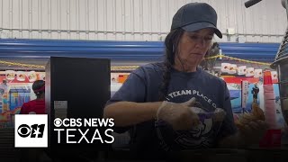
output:
{"label": "person in red shirt and dark cap beside the black box", "polygon": [[45,81],[36,80],[32,85],[37,98],[23,103],[20,114],[45,114]]}

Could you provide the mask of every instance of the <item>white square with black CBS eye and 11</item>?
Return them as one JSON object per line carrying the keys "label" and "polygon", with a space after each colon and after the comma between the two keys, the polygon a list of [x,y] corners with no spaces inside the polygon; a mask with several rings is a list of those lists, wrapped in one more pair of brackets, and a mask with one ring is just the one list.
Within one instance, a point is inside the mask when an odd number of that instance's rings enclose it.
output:
{"label": "white square with black CBS eye and 11", "polygon": [[15,148],[47,148],[47,127],[47,114],[16,114]]}

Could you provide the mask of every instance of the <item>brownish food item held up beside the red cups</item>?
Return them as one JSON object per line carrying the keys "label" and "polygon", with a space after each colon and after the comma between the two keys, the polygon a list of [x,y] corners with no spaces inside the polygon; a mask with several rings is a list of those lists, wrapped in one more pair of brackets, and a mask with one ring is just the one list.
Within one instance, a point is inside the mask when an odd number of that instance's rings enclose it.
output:
{"label": "brownish food item held up beside the red cups", "polygon": [[239,129],[244,129],[248,122],[257,120],[265,121],[265,115],[257,103],[252,103],[252,112],[240,115],[238,121],[235,121],[235,124]]}

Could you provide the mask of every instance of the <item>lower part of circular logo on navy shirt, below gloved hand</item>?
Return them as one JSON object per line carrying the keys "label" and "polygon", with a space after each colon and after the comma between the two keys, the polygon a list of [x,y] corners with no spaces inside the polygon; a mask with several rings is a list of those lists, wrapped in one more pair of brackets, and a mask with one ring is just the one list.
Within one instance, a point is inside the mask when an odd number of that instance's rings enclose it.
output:
{"label": "lower part of circular logo on navy shirt, below gloved hand", "polygon": [[173,130],[166,121],[156,121],[155,128],[160,147],[166,151],[177,151],[193,148],[210,148],[214,143],[220,124],[211,117],[204,118],[191,130]]}

